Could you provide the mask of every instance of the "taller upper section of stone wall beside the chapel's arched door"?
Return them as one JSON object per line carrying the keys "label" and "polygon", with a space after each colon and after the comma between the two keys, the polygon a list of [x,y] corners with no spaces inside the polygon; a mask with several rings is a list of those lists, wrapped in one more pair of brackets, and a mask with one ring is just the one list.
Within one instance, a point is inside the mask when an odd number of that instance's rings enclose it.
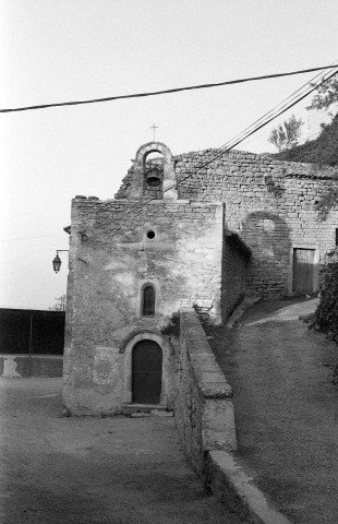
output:
{"label": "taller upper section of stone wall beside the chapel's arched door", "polygon": [[232,390],[218,367],[195,311],[180,311],[174,418],[184,453],[204,474],[210,450],[237,449]]}

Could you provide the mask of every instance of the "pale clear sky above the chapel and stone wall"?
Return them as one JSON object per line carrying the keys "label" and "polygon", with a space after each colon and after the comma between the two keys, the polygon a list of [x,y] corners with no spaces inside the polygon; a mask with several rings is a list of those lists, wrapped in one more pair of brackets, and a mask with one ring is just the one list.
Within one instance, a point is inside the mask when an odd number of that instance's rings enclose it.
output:
{"label": "pale clear sky above the chapel and stone wall", "polygon": [[[0,108],[100,98],[329,66],[336,0],[0,0]],[[0,114],[0,307],[65,294],[76,194],[113,198],[137,148],[219,147],[309,82],[306,73],[148,98]],[[311,97],[238,148],[268,135]],[[305,126],[306,129],[306,126]]]}

